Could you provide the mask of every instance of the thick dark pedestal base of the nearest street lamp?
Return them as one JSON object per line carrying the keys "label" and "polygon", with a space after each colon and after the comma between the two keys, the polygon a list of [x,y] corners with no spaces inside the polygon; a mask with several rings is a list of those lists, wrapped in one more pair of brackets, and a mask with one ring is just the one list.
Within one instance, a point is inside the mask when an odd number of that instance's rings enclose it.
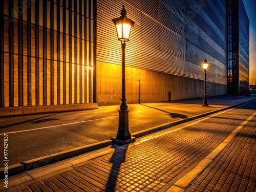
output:
{"label": "thick dark pedestal base of the nearest street lamp", "polygon": [[127,144],[135,141],[135,137],[131,136],[129,131],[129,110],[118,110],[119,122],[116,138],[111,138],[114,143]]}

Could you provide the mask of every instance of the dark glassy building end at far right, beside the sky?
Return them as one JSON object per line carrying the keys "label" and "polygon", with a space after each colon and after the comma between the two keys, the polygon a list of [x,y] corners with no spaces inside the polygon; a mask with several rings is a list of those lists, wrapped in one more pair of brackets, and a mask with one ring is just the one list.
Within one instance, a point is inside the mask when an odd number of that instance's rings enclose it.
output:
{"label": "dark glassy building end at far right, beside the sky", "polygon": [[249,91],[249,19],[242,0],[228,0],[228,94]]}

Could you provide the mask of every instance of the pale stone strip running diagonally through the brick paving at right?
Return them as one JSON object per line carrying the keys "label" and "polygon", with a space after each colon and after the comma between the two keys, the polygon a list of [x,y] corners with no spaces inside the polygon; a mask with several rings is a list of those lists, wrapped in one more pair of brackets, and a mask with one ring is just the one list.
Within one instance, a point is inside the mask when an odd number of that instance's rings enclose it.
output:
{"label": "pale stone strip running diagonally through the brick paving at right", "polygon": [[254,112],[244,122],[242,122],[222,143],[220,143],[214,151],[212,151],[207,157],[205,157],[200,163],[198,163],[193,169],[186,175],[180,178],[172,187],[166,192],[181,192],[185,191],[185,188],[216,158],[216,156],[223,150],[223,148],[232,140],[232,138],[238,133],[242,127],[256,115]]}

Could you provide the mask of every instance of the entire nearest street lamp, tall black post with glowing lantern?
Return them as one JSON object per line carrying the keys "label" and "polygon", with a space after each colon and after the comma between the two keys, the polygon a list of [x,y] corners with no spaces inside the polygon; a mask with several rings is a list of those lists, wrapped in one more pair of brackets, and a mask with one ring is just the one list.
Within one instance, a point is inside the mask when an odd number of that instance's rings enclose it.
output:
{"label": "entire nearest street lamp, tall black post with glowing lantern", "polygon": [[116,25],[116,32],[118,40],[121,41],[122,47],[122,98],[119,111],[119,122],[118,122],[118,132],[116,138],[112,138],[114,143],[126,144],[135,141],[135,137],[132,137],[129,131],[129,110],[126,104],[125,98],[125,41],[129,41],[131,28],[134,26],[135,22],[126,17],[126,11],[121,10],[121,16],[112,19]]}

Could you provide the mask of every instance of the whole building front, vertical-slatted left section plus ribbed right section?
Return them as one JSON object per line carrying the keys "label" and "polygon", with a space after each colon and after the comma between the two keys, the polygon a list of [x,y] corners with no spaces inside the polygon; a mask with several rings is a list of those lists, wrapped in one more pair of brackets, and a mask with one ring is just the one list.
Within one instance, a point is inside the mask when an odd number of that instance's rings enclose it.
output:
{"label": "whole building front, vertical-slatted left section plus ribbed right section", "polygon": [[0,108],[120,104],[112,18],[122,5],[136,22],[126,43],[127,103],[138,102],[138,78],[142,103],[203,97],[205,58],[207,96],[227,94],[225,0],[12,0],[0,1]]}

